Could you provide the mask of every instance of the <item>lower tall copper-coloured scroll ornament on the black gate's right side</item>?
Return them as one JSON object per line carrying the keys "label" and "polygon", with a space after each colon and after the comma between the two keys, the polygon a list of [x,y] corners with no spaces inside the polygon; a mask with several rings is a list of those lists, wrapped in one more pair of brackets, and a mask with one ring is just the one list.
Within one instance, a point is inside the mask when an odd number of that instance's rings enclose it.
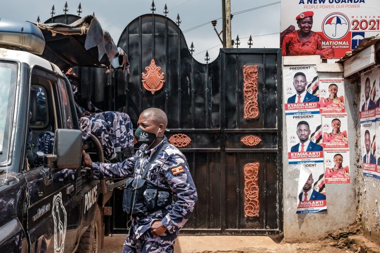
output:
{"label": "lower tall copper-coloured scroll ornament on the black gate's right side", "polygon": [[244,193],[245,204],[244,214],[245,217],[259,217],[260,216],[260,202],[259,202],[259,176],[260,163],[248,163],[244,166]]}

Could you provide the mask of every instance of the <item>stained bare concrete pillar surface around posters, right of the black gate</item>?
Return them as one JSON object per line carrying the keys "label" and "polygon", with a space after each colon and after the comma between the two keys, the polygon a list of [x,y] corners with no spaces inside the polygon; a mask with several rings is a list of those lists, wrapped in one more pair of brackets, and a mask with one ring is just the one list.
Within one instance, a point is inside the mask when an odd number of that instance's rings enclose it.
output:
{"label": "stained bare concrete pillar surface around posters, right of the black gate", "polygon": [[[295,61],[294,64],[289,63],[289,60],[287,60],[287,65],[302,65],[302,61]],[[319,77],[336,77],[337,74],[339,74],[340,77],[342,77],[342,72],[318,72]],[[345,108],[346,112],[348,113],[348,140],[350,148],[351,183],[326,184],[327,212],[314,214],[296,214],[299,194],[299,192],[297,192],[297,185],[299,181],[298,179],[300,172],[295,165],[288,165],[286,118],[285,113],[283,113],[283,201],[284,240],[286,242],[315,241],[327,236],[330,231],[345,228],[348,225],[355,222],[358,199],[356,195],[356,181],[358,178],[358,174],[362,173],[362,171],[358,172],[356,166],[356,164],[358,163],[356,150],[360,147],[360,145],[356,145],[357,133],[359,133],[358,129],[360,129],[359,110],[358,106],[356,105],[356,101],[360,101],[358,92],[359,89],[357,85],[352,85],[346,81]],[[369,181],[371,179],[366,180]],[[380,214],[380,206],[377,210],[378,214]],[[369,210],[369,212],[372,211],[373,209]]]}

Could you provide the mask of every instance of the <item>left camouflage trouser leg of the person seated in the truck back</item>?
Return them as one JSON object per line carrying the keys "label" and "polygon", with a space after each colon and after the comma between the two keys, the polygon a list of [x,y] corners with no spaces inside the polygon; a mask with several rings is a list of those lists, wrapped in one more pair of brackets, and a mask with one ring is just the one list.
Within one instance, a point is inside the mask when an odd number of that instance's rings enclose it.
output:
{"label": "left camouflage trouser leg of the person seated in the truck back", "polygon": [[116,158],[114,139],[111,135],[110,125],[101,119],[79,118],[79,128],[82,131],[82,140],[87,140],[91,134],[95,135],[103,148],[104,158],[111,160]]}

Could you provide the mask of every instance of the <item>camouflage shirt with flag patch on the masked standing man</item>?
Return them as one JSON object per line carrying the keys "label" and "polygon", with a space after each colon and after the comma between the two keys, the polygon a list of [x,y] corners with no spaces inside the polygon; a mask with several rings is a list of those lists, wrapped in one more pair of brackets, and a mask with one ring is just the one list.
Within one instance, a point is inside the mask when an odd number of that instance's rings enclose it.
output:
{"label": "camouflage shirt with flag patch on the masked standing man", "polygon": [[[167,142],[166,137],[164,137],[164,141]],[[139,179],[158,146],[147,149],[148,145],[143,144],[135,156],[120,163],[94,162],[92,173],[97,179],[123,178],[130,175]],[[146,180],[172,191],[177,200],[173,200],[166,208],[146,216],[132,217],[136,238],[139,239],[151,227],[154,220],[161,220],[170,234],[178,234],[189,219],[197,200],[196,188],[185,156],[175,146],[168,144],[152,162]]]}

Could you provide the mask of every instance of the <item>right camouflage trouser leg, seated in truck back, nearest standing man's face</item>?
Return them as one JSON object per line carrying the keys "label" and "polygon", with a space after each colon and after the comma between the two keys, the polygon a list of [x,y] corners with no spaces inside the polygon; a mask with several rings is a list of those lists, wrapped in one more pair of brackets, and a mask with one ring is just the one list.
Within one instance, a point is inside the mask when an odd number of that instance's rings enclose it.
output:
{"label": "right camouflage trouser leg, seated in truck back, nearest standing man's face", "polygon": [[118,111],[105,111],[88,117],[90,120],[101,119],[111,126],[111,136],[116,152],[134,146],[133,126],[128,114]]}

